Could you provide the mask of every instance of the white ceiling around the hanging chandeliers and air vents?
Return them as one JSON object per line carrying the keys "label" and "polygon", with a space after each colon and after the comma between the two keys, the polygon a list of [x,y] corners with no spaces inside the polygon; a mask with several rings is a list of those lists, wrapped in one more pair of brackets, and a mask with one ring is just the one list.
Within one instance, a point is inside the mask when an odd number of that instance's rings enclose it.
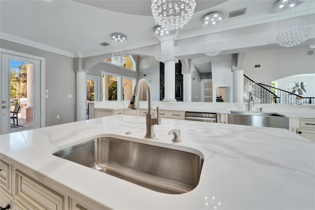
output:
{"label": "white ceiling around the hanging chandeliers and air vents", "polygon": [[[309,1],[315,5],[315,0]],[[221,11],[225,16],[225,37],[275,27],[277,0],[196,2],[192,19],[178,30],[178,41],[193,42],[193,38],[202,35],[201,19],[212,11]],[[241,8],[247,8],[245,15],[227,18],[228,12]],[[260,27],[261,24],[265,28]],[[100,43],[111,43],[110,35],[117,32],[126,35],[127,49],[156,45],[155,26],[151,0],[0,0],[1,38],[47,45],[70,55],[79,53],[89,57],[110,53],[111,47]],[[201,55],[193,58],[193,63],[203,72],[211,59],[225,59],[226,55],[222,56]]]}

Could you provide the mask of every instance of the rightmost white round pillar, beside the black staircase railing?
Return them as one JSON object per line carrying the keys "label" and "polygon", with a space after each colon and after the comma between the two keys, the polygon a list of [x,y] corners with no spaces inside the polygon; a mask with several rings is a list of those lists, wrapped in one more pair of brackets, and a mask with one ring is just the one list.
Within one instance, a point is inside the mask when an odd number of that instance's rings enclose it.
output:
{"label": "rightmost white round pillar, beside the black staircase railing", "polygon": [[233,103],[243,103],[244,70],[233,70]]}

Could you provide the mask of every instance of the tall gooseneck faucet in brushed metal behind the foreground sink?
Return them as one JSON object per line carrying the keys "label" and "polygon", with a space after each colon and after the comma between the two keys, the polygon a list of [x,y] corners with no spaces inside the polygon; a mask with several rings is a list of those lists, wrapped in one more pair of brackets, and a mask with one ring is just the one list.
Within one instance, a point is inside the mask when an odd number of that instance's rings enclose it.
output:
{"label": "tall gooseneck faucet in brushed metal behind the foreground sink", "polygon": [[[146,79],[140,79],[136,86],[134,87],[134,91],[133,91],[133,96],[130,100],[130,104],[128,105],[128,108],[131,109],[139,109],[139,97],[138,94],[140,92],[140,88],[142,86],[142,84],[145,84],[147,86],[148,89],[148,113],[146,114],[146,127],[147,127],[147,133],[145,135],[145,138],[155,138],[156,135],[154,133],[154,125],[160,125],[161,124],[161,119],[155,118],[154,117],[154,113],[152,110],[152,93],[151,93],[151,87],[149,82]],[[159,113],[159,108],[157,107],[157,113]]]}

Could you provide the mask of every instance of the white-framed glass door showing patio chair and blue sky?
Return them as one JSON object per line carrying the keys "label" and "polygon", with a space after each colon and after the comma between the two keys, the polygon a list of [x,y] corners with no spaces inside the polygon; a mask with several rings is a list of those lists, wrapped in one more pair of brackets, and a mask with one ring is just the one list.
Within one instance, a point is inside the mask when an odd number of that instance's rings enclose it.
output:
{"label": "white-framed glass door showing patio chair and blue sky", "polygon": [[39,128],[40,61],[1,55],[1,134]]}

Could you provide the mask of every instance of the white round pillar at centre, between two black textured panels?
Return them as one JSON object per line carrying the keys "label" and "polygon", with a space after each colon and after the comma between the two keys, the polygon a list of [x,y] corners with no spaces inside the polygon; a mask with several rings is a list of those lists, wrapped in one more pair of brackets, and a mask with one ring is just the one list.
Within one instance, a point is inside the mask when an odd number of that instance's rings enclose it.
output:
{"label": "white round pillar at centre, between two black textured panels", "polygon": [[175,99],[175,61],[164,62],[163,102],[176,102]]}

